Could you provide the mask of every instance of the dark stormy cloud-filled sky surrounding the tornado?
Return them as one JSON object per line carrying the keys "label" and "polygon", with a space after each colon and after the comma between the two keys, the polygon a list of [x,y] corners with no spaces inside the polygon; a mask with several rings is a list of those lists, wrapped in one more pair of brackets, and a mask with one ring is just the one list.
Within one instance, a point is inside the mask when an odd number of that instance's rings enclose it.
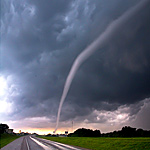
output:
{"label": "dark stormy cloud-filled sky surrounding the tornado", "polygon": [[0,123],[52,133],[73,62],[127,14],[76,72],[58,133],[150,130],[150,1],[142,1],[1,0]]}

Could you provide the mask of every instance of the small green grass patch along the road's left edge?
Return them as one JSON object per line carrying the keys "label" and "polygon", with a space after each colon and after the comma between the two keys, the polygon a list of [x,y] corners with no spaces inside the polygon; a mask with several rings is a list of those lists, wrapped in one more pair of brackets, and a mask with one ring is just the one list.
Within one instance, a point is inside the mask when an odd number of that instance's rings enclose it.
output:
{"label": "small green grass patch along the road's left edge", "polygon": [[12,134],[0,134],[0,148],[19,138],[20,136]]}

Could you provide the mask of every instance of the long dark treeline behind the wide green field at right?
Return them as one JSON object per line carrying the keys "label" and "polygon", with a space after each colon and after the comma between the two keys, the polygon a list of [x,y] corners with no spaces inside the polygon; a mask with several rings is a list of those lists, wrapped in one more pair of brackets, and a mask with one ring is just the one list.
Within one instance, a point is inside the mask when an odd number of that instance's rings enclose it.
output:
{"label": "long dark treeline behind the wide green field at right", "polygon": [[119,131],[101,134],[100,130],[77,129],[70,133],[69,137],[150,137],[150,131],[125,126]]}

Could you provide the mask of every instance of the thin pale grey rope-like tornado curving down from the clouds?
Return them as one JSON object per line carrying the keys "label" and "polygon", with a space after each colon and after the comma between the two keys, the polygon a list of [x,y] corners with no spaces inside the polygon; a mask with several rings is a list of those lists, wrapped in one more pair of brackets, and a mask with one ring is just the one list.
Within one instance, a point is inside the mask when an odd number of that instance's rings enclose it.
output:
{"label": "thin pale grey rope-like tornado curving down from the clouds", "polygon": [[120,16],[118,19],[112,21],[108,27],[105,29],[105,31],[99,35],[99,37],[93,41],[86,49],[84,49],[75,59],[71,70],[67,76],[63,93],[60,99],[60,104],[58,108],[57,113],[57,121],[56,121],[56,127],[55,131],[58,129],[59,125],[59,119],[60,119],[60,113],[61,109],[64,103],[64,100],[68,94],[68,91],[70,89],[72,80],[79,69],[79,67],[82,65],[82,63],[88,59],[95,51],[98,49],[101,49],[104,45],[106,45],[117,33],[118,29],[120,29],[127,21],[132,19],[135,14],[137,14],[139,11],[141,11],[146,5],[149,5],[149,0],[141,0],[137,5],[133,6],[131,9],[129,9],[127,12],[125,12],[122,16]]}

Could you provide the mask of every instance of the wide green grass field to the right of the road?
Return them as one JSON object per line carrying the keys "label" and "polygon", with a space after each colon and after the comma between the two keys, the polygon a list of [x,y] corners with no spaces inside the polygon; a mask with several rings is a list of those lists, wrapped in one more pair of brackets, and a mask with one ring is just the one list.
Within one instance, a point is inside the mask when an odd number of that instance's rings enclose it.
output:
{"label": "wide green grass field to the right of the road", "polygon": [[150,150],[150,138],[41,137],[92,150]]}

